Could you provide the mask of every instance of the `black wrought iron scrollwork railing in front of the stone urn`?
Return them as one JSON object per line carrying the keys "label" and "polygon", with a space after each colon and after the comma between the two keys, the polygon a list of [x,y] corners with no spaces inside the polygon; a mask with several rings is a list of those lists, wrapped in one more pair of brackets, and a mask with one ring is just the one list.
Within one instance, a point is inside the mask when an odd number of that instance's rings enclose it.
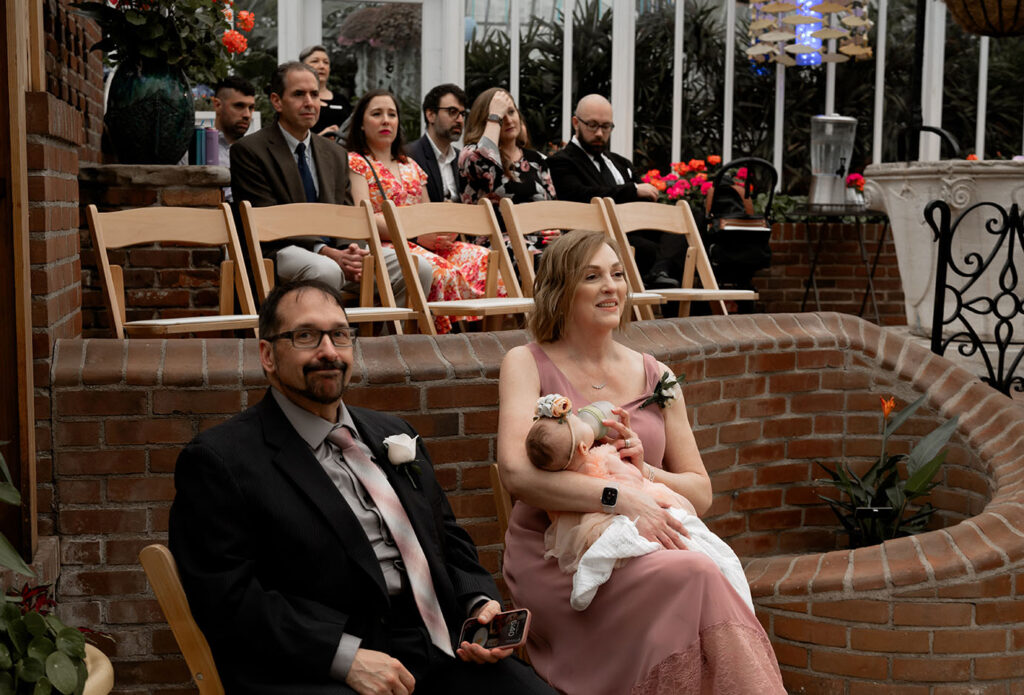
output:
{"label": "black wrought iron scrollwork railing in front of the stone urn", "polygon": [[[977,213],[972,215],[972,213]],[[983,216],[981,249],[964,249],[953,257],[953,238],[968,224]],[[1016,375],[1024,358],[1024,335],[1014,337],[1014,327],[1024,327],[1024,220],[1014,203],[1009,212],[995,203],[977,203],[955,220],[944,201],[925,208],[925,220],[939,244],[932,314],[932,352],[944,354],[950,344],[965,357],[979,355],[988,372],[981,380],[1010,395],[1024,392],[1024,375]],[[962,256],[962,257],[961,257]],[[995,275],[994,296],[982,288],[982,276]],[[991,340],[983,340],[977,325],[992,327]],[[1024,331],[1022,331],[1024,332]],[[986,336],[987,337],[987,336]]]}

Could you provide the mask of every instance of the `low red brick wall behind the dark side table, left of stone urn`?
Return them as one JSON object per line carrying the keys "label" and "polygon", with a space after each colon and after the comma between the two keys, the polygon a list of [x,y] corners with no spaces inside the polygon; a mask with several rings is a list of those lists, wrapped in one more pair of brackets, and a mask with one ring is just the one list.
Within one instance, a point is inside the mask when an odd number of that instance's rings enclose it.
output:
{"label": "low red brick wall behind the dark side table, left of stone urn", "polygon": [[[852,223],[806,224],[785,222],[772,229],[772,265],[761,271],[754,286],[761,295],[760,310],[768,313],[790,311],[839,311],[874,321],[874,307],[868,301],[861,314],[864,291],[870,264],[883,234],[884,225],[863,225],[864,251],[868,266],[860,258],[857,225]],[[814,291],[802,308],[807,277],[811,269],[814,247],[821,242],[815,276],[820,309],[814,303]],[[885,231],[882,253],[874,271],[874,296],[882,325],[905,325],[903,290],[896,265],[896,248],[892,231]]]}

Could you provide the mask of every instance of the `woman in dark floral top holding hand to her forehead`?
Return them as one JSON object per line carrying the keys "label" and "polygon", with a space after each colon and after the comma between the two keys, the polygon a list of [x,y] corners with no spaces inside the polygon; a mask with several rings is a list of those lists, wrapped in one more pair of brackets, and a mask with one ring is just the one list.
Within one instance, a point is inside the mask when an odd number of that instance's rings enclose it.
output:
{"label": "woman in dark floral top holding hand to her forehead", "polygon": [[[513,203],[554,200],[555,186],[544,155],[530,149],[522,115],[512,95],[501,87],[485,90],[473,101],[463,142],[459,155],[459,171],[465,180],[463,203],[485,198],[497,207],[503,198]],[[557,229],[531,234],[527,243],[540,253],[535,247],[541,238],[547,243],[558,234]]]}

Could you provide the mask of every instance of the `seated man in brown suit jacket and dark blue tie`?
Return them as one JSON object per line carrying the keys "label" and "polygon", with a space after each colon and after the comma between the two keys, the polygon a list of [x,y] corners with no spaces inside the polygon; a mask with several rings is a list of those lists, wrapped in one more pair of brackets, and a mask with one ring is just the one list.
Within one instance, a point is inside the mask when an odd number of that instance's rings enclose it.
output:
{"label": "seated man in brown suit jacket and dark blue tie", "polygon": [[[234,202],[249,201],[254,208],[287,203],[351,205],[348,153],[310,130],[319,118],[316,73],[302,62],[286,62],[274,71],[269,91],[274,123],[231,146]],[[313,277],[332,287],[355,289],[362,258],[370,252],[355,244],[335,248],[315,236],[315,229],[308,231],[309,236],[263,247],[274,258],[278,275],[286,280]],[[384,250],[384,262],[395,301],[402,304],[406,284],[392,249]],[[421,275],[429,288],[430,274]]]}

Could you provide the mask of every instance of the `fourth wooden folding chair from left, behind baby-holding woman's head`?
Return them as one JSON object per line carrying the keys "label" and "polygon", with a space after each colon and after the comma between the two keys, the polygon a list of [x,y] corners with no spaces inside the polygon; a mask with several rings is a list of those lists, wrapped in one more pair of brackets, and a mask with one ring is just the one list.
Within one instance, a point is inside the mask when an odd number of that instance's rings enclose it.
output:
{"label": "fourth wooden folding chair from left, behind baby-holding woman's head", "polygon": [[[519,265],[523,291],[528,297],[534,296],[535,273],[534,259],[526,250],[526,234],[536,234],[544,229],[561,229],[562,231],[596,229],[603,231],[609,242],[618,246],[620,252],[624,256],[629,253],[629,247],[622,246],[611,231],[611,223],[608,221],[607,213],[600,199],[595,198],[590,203],[538,201],[513,205],[509,199],[503,198],[500,207],[502,219],[505,220],[505,229],[509,232],[509,241]],[[644,292],[643,285],[630,281],[629,276],[627,276],[627,280],[634,315],[637,318],[653,318],[654,312],[651,311],[650,306],[662,304],[665,300],[659,295]]]}

